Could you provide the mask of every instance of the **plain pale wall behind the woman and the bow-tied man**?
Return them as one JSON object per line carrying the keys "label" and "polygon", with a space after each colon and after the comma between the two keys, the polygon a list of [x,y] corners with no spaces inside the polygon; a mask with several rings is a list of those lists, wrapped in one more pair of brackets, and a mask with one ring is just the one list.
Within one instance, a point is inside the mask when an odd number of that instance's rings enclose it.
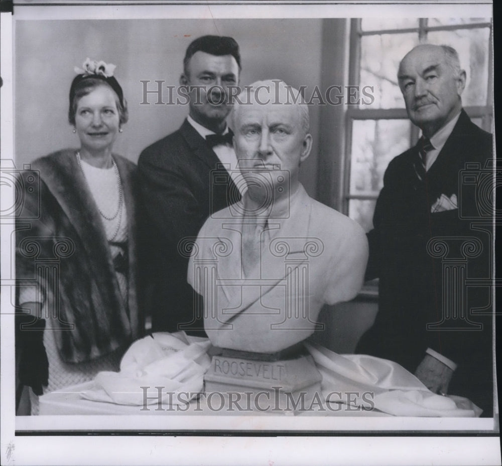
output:
{"label": "plain pale wall behind the woman and the bow-tied man", "polygon": [[[282,79],[313,89],[321,70],[321,19],[301,20],[68,20],[18,21],[15,31],[15,158],[18,167],[63,147],[78,147],[68,123],[68,92],[86,57],[117,66],[115,77],[129,103],[129,122],[113,150],[133,162],[152,142],[176,130],[187,105],[150,105],[142,80],[177,86],[185,50],[205,35],[233,37],[240,46],[240,84]],[[164,89],[163,101],[168,101]],[[313,148],[301,181],[316,194],[319,108],[310,109]]]}

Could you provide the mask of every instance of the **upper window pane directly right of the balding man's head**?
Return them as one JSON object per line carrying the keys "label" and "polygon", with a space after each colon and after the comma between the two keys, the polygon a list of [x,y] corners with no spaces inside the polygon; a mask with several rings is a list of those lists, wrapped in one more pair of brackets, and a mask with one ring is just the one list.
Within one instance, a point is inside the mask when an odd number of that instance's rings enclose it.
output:
{"label": "upper window pane directly right of the balding man's head", "polygon": [[488,88],[489,28],[435,31],[428,34],[431,44],[451,45],[458,52],[460,66],[467,72],[462,104],[486,105]]}

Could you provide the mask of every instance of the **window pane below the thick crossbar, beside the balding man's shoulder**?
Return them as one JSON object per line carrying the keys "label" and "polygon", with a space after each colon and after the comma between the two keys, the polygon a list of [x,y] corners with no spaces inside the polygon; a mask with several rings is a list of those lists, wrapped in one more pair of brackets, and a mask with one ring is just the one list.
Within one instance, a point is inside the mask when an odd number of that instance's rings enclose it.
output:
{"label": "window pane below the thick crossbar, beside the balding man's shoulder", "polygon": [[350,194],[377,195],[389,162],[410,147],[409,120],[353,120]]}

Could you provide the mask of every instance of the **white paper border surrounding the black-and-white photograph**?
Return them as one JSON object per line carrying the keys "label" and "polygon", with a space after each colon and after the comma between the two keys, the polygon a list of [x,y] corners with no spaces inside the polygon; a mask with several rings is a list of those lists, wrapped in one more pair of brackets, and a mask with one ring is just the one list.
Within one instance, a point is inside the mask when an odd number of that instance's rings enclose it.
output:
{"label": "white paper border surrounding the black-and-white photograph", "polygon": [[[15,2],[14,15],[2,13],[2,159],[9,159],[6,154],[14,153],[14,34],[17,21],[301,19],[372,15],[419,18],[424,16],[425,5],[427,16],[459,16],[460,8],[462,17],[492,16],[489,2],[472,1],[380,2],[379,5],[319,2],[315,8],[309,2],[264,2],[260,5],[256,2],[149,2],[148,5],[105,2],[105,6],[98,2],[89,2],[89,5],[52,2],[55,5],[50,6],[49,3]],[[4,198],[4,202],[7,204],[10,200]],[[5,251],[12,250],[12,227],[8,223],[0,225],[3,277],[11,276],[12,264],[5,261],[4,256]],[[0,454],[3,464],[417,464],[426,461],[434,461],[434,464],[457,461],[463,464],[500,464],[498,423],[491,418],[174,416],[166,423],[162,416],[16,417],[13,401],[14,315],[6,311],[11,307],[8,294],[0,294]],[[126,432],[120,434],[120,431]],[[477,431],[476,436],[474,431]],[[118,435],[110,435],[110,432]],[[221,433],[231,435],[232,432],[234,436],[218,436]],[[442,432],[448,432],[448,435],[442,436]],[[222,451],[228,453],[222,454]]]}

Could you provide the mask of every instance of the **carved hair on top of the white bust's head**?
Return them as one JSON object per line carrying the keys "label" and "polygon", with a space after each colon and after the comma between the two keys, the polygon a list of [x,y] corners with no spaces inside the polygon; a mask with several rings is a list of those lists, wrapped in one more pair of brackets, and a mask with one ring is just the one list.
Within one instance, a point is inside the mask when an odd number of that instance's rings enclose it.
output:
{"label": "carved hair on top of the white bust's head", "polygon": [[[277,92],[276,92],[277,91]],[[256,97],[260,94],[257,102]],[[263,95],[265,94],[265,95]],[[294,105],[298,108],[300,122],[305,134],[310,131],[309,107],[298,89],[286,84],[279,79],[267,79],[265,81],[256,81],[249,86],[244,86],[244,90],[235,98],[232,113],[230,117],[231,125],[236,130],[236,120],[239,108],[252,103],[266,102],[270,100],[272,105]]]}

